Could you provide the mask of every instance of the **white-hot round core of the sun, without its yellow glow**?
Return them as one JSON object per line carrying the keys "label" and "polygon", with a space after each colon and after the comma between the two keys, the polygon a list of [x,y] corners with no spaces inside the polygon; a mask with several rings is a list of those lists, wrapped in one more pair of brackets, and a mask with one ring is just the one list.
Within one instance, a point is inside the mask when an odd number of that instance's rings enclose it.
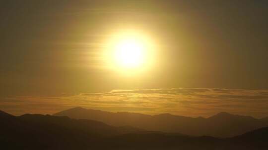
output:
{"label": "white-hot round core of the sun, without its yellow glow", "polygon": [[145,61],[145,45],[135,37],[121,39],[116,43],[114,59],[121,67],[139,67]]}

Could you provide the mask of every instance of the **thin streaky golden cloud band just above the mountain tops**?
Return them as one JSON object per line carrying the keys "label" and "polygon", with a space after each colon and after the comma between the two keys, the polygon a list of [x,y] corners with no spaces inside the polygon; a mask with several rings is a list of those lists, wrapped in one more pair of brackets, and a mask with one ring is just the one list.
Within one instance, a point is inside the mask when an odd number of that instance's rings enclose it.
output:
{"label": "thin streaky golden cloud band just above the mountain tops", "polygon": [[217,112],[268,116],[268,90],[170,88],[112,90],[62,97],[8,97],[0,109],[15,115],[55,113],[73,107],[111,112],[171,113],[208,117]]}

